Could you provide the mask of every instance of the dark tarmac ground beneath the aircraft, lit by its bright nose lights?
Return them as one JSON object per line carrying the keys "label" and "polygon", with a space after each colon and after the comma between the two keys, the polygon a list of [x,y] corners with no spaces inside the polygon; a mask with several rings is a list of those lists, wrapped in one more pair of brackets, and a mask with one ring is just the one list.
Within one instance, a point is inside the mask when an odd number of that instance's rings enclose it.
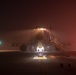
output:
{"label": "dark tarmac ground beneath the aircraft, lit by its bright nose lights", "polygon": [[46,57],[41,60],[25,52],[0,52],[0,75],[76,75],[76,59]]}

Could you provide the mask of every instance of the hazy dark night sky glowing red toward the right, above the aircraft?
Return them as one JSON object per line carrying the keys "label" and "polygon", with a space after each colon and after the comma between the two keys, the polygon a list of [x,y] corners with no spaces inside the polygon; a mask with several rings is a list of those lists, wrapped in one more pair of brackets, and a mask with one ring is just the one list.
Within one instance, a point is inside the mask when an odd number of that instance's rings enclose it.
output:
{"label": "hazy dark night sky glowing red toward the right, above the aircraft", "polygon": [[11,34],[11,31],[20,32],[40,26],[47,28],[51,26],[61,41],[76,45],[76,2],[72,0],[1,2],[1,39],[3,37],[8,39],[7,35],[13,36],[15,32]]}

